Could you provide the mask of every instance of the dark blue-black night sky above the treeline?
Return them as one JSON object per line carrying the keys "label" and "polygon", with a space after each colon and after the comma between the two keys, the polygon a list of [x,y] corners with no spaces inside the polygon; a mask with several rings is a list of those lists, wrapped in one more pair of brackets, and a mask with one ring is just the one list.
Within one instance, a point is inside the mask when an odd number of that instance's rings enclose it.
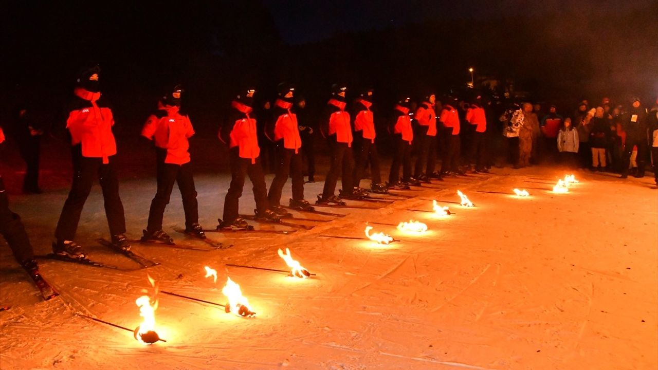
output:
{"label": "dark blue-black night sky above the treeline", "polygon": [[578,19],[591,13],[642,9],[655,1],[263,0],[263,3],[272,12],[282,38],[289,43],[303,44],[328,38],[335,32],[359,32],[426,20],[482,20],[548,13],[563,13]]}

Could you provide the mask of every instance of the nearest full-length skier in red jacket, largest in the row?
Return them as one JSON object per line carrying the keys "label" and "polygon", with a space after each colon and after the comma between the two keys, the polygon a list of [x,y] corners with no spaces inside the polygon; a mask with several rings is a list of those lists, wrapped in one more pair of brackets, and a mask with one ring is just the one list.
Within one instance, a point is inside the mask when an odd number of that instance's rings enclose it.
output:
{"label": "nearest full-length skier in red jacket, largest in the row", "polygon": [[73,240],[94,178],[99,179],[103,189],[112,244],[122,250],[130,249],[124,235],[126,220],[114,170],[114,119],[107,99],[99,90],[100,72],[99,66],[93,66],[80,73],[66,120],[71,138],[73,184],[55,229],[53,251],[70,257],[85,257],[80,245]]}

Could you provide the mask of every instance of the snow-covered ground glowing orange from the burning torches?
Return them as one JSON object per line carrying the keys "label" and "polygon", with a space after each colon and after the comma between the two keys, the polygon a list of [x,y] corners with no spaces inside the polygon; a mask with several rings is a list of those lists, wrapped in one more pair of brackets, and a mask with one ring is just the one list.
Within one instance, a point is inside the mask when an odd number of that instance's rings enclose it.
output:
{"label": "snow-covered ground glowing orange from the burning torches", "polygon": [[[12,307],[0,312],[0,368],[656,369],[658,192],[653,179],[622,181],[609,174],[576,172],[581,184],[569,194],[552,194],[547,190],[551,185],[541,182],[553,182],[565,171],[533,167],[493,172],[449,178],[440,188],[406,192],[415,198],[378,209],[339,210],[347,217],[316,223],[313,230],[209,234],[234,244],[228,250],[134,245],[135,251],[161,263],[145,270],[42,261],[43,275],[61,292],[49,302],[41,301],[3,246],[0,305]],[[196,180],[201,224],[214,228],[228,176],[202,174]],[[307,199],[321,186],[307,184]],[[481,192],[513,188],[526,188],[530,198]],[[457,189],[476,207],[443,203],[456,214],[442,218],[406,210],[431,209],[425,199],[457,201]],[[120,190],[128,233],[138,237],[155,180],[126,180]],[[11,198],[38,253],[49,251],[66,192],[62,188]],[[289,193],[290,183],[284,199]],[[247,182],[241,211],[251,209]],[[410,236],[394,226],[372,225],[401,240],[389,246],[320,237],[361,237],[367,221],[397,224],[409,219],[427,223],[430,230]],[[94,242],[107,237],[97,186],[82,220],[78,242],[93,259],[136,267]],[[164,223],[184,242],[172,230],[183,224],[178,190]],[[276,253],[285,247],[317,276],[302,280],[225,266],[285,269]],[[204,277],[205,265],[218,270],[216,284]],[[141,318],[135,300],[149,288],[147,273],[161,290],[222,304],[226,298],[221,288],[230,276],[257,317],[245,319],[213,305],[160,294],[157,331],[168,342],[143,346],[129,332],[76,315],[136,327]]]}

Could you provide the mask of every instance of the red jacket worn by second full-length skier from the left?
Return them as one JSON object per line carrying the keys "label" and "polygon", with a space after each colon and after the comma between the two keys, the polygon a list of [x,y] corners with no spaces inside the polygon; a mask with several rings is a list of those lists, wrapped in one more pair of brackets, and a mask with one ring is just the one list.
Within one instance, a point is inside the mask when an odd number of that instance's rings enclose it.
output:
{"label": "red jacket worn by second full-length skier from the left", "polygon": [[158,102],[158,111],[146,120],[141,136],[155,138],[155,146],[166,149],[164,163],[184,165],[190,162],[190,142],[194,134],[192,122],[187,115],[178,113],[179,107]]}

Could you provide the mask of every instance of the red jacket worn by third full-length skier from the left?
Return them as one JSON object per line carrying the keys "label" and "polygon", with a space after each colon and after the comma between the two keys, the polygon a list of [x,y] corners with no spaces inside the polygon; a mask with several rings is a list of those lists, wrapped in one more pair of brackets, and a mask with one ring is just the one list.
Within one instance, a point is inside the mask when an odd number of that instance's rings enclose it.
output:
{"label": "red jacket worn by third full-length skier from the left", "polygon": [[261,154],[261,148],[258,146],[256,119],[250,116],[253,109],[236,100],[231,102],[231,107],[234,109],[230,119],[232,122],[229,122],[229,125],[225,128],[220,129],[219,140],[225,142],[222,138],[223,131],[230,130],[227,138],[229,141],[228,147],[238,147],[238,156],[251,159],[253,165],[256,163],[256,158]]}

